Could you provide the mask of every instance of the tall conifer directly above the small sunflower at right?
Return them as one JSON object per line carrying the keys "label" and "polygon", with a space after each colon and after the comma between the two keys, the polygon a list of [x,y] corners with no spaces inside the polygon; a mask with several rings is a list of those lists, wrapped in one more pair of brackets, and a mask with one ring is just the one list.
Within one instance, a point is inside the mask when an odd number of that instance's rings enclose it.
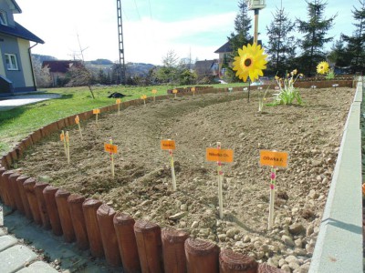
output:
{"label": "tall conifer directly above the small sunflower at right", "polygon": [[326,58],[324,45],[332,41],[333,37],[328,37],[328,30],[334,25],[333,21],[337,15],[326,19],[324,17],[327,3],[322,0],[312,0],[308,2],[308,21],[297,19],[297,30],[304,36],[299,41],[302,49],[301,56],[298,58],[300,71],[308,76],[313,75],[316,66]]}

